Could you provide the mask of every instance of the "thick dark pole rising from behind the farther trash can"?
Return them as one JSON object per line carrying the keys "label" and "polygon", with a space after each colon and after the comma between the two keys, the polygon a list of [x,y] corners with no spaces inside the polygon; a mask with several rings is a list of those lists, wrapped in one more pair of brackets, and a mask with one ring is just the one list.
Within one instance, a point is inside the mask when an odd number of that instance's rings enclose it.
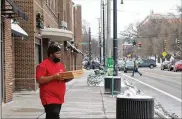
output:
{"label": "thick dark pole rising from behind the farther trash can", "polygon": [[113,58],[114,76],[118,76],[117,0],[113,0]]}

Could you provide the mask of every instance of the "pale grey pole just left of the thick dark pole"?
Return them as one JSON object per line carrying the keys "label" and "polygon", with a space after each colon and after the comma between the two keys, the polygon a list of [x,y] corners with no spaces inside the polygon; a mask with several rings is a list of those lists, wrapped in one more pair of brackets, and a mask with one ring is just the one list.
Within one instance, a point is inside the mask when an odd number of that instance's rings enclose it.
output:
{"label": "pale grey pole just left of the thick dark pole", "polygon": [[111,42],[111,0],[107,0],[107,48],[106,53],[108,57],[112,57],[112,47]]}

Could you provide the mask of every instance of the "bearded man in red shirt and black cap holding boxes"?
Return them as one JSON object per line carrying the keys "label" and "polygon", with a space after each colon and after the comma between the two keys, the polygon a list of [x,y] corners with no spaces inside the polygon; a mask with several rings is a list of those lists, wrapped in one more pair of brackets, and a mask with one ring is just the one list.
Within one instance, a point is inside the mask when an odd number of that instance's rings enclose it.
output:
{"label": "bearded man in red shirt and black cap holding boxes", "polygon": [[36,68],[36,81],[40,85],[40,99],[44,106],[46,119],[59,119],[61,106],[64,103],[66,84],[60,72],[65,72],[60,62],[61,50],[58,46],[48,48],[48,58]]}

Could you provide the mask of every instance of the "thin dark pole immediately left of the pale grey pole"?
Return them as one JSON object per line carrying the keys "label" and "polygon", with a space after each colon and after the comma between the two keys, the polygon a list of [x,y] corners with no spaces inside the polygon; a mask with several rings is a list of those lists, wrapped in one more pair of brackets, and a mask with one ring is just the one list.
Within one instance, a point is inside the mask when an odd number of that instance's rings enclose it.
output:
{"label": "thin dark pole immediately left of the pale grey pole", "polygon": [[104,7],[104,1],[103,1],[103,4],[102,4],[102,10],[103,10],[103,62],[104,62],[104,68],[105,68],[105,58],[106,58],[106,54],[105,54],[105,13],[104,13],[104,10],[105,7]]}

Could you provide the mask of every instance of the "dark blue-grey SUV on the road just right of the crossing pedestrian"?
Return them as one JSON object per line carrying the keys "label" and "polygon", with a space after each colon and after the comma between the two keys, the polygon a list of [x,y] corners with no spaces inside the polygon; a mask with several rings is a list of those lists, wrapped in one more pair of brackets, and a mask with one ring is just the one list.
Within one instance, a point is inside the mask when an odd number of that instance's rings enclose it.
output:
{"label": "dark blue-grey SUV on the road just right of the crossing pedestrian", "polygon": [[156,65],[155,60],[153,60],[153,59],[142,59],[138,63],[138,66],[139,67],[149,67],[149,68],[153,69],[157,65]]}

